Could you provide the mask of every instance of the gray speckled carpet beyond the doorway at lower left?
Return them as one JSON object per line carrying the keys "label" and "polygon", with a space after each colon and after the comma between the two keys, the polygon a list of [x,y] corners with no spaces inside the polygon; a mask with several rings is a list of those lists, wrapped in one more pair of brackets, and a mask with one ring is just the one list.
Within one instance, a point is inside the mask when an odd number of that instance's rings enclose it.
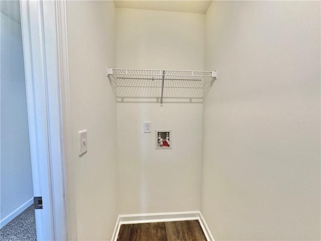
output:
{"label": "gray speckled carpet beyond the doorway at lower left", "polygon": [[20,213],[6,226],[0,229],[1,241],[36,241],[36,220],[34,205]]}

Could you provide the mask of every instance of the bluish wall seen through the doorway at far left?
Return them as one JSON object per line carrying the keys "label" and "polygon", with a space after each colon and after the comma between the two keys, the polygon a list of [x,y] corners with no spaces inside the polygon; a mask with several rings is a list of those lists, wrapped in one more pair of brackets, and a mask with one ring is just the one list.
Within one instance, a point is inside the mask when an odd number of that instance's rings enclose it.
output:
{"label": "bluish wall seen through the doorway at far left", "polygon": [[[2,2],[1,10],[3,4],[8,7],[7,15],[20,16],[19,2]],[[1,226],[27,208],[33,198],[22,32],[20,21],[7,15],[2,11]]]}

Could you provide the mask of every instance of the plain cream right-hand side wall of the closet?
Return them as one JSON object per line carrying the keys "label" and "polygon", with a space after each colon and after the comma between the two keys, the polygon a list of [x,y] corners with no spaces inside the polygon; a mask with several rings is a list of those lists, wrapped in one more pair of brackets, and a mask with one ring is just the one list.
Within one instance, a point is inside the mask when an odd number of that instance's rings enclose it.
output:
{"label": "plain cream right-hand side wall of the closet", "polygon": [[320,2],[213,2],[202,213],[215,240],[320,238]]}

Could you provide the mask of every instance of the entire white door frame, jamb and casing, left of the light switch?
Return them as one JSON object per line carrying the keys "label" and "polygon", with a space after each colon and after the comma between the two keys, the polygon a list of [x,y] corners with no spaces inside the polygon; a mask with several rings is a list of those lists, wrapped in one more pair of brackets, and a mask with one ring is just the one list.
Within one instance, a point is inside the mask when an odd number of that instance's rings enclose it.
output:
{"label": "entire white door frame, jamb and casing, left of the light switch", "polygon": [[65,1],[20,1],[37,240],[77,240]]}

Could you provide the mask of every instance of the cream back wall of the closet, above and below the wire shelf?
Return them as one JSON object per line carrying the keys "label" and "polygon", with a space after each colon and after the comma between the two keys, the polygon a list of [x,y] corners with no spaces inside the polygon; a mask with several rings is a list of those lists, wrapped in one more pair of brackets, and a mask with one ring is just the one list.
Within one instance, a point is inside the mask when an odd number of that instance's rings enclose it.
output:
{"label": "cream back wall of the closet, above and below the wire shelf", "polygon": [[[117,68],[203,70],[204,15],[116,13]],[[172,129],[173,149],[155,150],[155,129]],[[202,104],[117,103],[119,213],[199,210],[201,135]]]}

